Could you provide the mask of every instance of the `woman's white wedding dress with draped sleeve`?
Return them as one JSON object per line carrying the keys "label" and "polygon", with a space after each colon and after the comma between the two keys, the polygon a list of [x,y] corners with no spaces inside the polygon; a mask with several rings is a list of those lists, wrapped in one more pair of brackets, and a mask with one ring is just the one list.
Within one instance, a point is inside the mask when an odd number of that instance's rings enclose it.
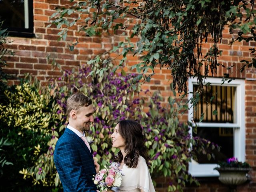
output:
{"label": "woman's white wedding dress with draped sleeve", "polygon": [[140,192],[142,190],[144,192],[155,192],[146,160],[142,156],[139,156],[136,168],[129,168],[124,164],[121,172],[124,174],[122,184],[119,188],[113,187],[113,191]]}

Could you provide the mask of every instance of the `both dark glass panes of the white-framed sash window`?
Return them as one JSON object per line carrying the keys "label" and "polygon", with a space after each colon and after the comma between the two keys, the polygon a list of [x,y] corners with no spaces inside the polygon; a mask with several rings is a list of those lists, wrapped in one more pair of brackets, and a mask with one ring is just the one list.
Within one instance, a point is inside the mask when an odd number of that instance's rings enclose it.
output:
{"label": "both dark glass panes of the white-framed sash window", "polygon": [[[198,86],[193,85],[193,92],[196,92]],[[204,93],[200,96],[200,101],[194,110],[194,121],[199,122],[201,114],[204,113],[203,123],[210,123],[212,126],[198,127],[197,133],[193,137],[201,137],[220,146],[220,152],[214,148],[209,149],[210,154],[214,154],[215,159],[209,161],[204,154],[198,154],[198,163],[218,163],[234,156],[234,128],[214,126],[215,123],[234,123],[236,121],[235,98],[236,87],[212,85],[205,86]],[[213,115],[217,110],[218,115]]]}

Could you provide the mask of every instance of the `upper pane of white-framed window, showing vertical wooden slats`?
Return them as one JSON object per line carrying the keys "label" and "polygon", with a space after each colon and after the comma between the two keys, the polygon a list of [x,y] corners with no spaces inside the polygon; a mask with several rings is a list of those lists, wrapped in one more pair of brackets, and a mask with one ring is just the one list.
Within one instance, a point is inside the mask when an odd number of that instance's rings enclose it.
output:
{"label": "upper pane of white-framed window, showing vertical wooden slats", "polygon": [[[194,85],[194,92],[198,86]],[[234,123],[236,87],[232,86],[205,86],[204,94],[194,108],[194,121],[199,122],[201,114],[204,113],[202,122]],[[214,98],[213,98],[214,96]],[[212,112],[217,110],[218,115]]]}

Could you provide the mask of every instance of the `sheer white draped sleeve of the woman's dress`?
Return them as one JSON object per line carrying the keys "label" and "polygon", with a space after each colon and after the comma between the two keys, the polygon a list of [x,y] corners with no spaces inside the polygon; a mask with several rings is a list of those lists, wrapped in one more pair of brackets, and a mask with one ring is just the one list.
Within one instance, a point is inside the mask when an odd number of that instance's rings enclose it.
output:
{"label": "sheer white draped sleeve of the woman's dress", "polygon": [[150,172],[148,170],[148,166],[146,164],[146,160],[140,156],[138,162],[138,188],[143,190],[144,192],[155,192],[155,188],[150,176]]}

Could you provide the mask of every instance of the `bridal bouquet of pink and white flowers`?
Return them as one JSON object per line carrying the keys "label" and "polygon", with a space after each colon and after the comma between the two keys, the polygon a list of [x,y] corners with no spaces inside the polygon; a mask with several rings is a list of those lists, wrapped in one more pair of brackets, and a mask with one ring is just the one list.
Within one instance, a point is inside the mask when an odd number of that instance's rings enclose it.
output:
{"label": "bridal bouquet of pink and white flowers", "polygon": [[104,169],[100,170],[96,176],[92,179],[97,188],[100,191],[107,191],[112,187],[120,187],[122,183],[122,177],[124,174],[120,172],[118,167],[119,163],[114,163],[111,165],[105,165]]}

